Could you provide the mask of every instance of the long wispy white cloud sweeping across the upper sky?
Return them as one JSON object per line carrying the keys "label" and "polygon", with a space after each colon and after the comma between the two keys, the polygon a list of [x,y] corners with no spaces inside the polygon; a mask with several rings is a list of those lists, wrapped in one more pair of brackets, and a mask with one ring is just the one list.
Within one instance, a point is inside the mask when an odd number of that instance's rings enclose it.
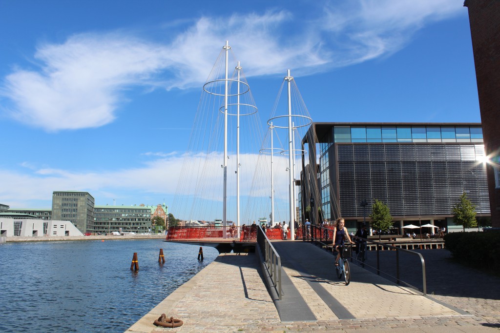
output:
{"label": "long wispy white cloud sweeping across the upper sky", "polygon": [[273,75],[293,68],[308,75],[391,54],[431,21],[463,11],[455,0],[325,2],[316,17],[288,10],[200,17],[158,43],[138,36],[83,33],[64,43],[38,45],[39,68],[16,69],[0,89],[4,111],[46,131],[99,127],[112,122],[125,89],[184,89],[204,82],[224,40],[245,72]]}

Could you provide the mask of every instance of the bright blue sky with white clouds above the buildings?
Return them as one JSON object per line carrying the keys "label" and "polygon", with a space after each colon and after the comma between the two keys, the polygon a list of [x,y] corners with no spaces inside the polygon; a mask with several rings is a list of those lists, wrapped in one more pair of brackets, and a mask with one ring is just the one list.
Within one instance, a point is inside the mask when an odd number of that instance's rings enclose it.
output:
{"label": "bright blue sky with white clouds above the buildings", "polygon": [[314,121],[479,122],[462,4],[0,0],[0,203],[170,205],[225,40],[262,124],[288,68]]}

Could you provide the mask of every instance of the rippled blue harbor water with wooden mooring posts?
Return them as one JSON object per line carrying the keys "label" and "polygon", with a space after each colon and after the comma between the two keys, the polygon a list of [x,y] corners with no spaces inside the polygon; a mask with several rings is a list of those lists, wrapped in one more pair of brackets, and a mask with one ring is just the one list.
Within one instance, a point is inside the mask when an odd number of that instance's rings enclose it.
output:
{"label": "rippled blue harbor water with wooden mooring posts", "polygon": [[124,332],[218,255],[203,247],[198,261],[198,249],[158,239],[1,244],[0,332]]}

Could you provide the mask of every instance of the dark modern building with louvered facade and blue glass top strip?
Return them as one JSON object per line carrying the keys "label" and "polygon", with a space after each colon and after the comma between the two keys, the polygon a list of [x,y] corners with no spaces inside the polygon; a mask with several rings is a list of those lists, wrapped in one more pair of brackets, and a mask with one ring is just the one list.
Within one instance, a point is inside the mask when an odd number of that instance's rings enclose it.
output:
{"label": "dark modern building with louvered facade and blue glass top strip", "polygon": [[354,229],[377,199],[398,232],[403,221],[453,227],[463,192],[489,216],[480,123],[313,123],[303,143],[299,201],[303,216],[314,200],[312,223],[343,217]]}

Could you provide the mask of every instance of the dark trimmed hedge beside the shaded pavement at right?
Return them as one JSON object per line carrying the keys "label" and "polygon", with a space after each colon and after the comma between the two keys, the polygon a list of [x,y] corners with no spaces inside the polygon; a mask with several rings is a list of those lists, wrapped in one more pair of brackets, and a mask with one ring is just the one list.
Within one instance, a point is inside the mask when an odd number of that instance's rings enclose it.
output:
{"label": "dark trimmed hedge beside the shaded pavement at right", "polygon": [[453,232],[444,246],[456,261],[500,276],[500,232]]}

